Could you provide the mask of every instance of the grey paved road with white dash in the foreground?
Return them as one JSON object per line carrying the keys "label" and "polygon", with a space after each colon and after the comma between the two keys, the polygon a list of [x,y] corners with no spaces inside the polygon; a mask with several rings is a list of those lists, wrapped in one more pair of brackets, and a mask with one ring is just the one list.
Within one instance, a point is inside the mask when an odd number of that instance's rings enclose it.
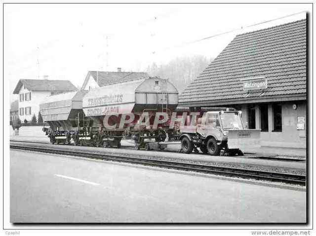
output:
{"label": "grey paved road with white dash in the foreground", "polygon": [[107,162],[10,152],[10,222],[293,223],[306,193]]}

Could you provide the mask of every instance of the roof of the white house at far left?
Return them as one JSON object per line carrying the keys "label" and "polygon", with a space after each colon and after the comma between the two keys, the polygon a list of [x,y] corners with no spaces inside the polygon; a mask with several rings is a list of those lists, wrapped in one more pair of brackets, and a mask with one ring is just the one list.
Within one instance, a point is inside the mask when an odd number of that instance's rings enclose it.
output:
{"label": "roof of the white house at far left", "polygon": [[20,79],[13,94],[18,94],[22,85],[30,91],[77,91],[77,87],[69,80]]}

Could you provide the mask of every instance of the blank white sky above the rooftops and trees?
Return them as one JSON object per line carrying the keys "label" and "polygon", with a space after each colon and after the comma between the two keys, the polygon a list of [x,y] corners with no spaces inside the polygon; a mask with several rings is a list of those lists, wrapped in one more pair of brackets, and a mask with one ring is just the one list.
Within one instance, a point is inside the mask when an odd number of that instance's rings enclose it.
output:
{"label": "blank white sky above the rooftops and trees", "polygon": [[144,72],[177,57],[215,58],[236,35],[306,12],[311,4],[4,4],[4,80],[13,101],[19,79],[48,76],[81,87],[88,71]]}

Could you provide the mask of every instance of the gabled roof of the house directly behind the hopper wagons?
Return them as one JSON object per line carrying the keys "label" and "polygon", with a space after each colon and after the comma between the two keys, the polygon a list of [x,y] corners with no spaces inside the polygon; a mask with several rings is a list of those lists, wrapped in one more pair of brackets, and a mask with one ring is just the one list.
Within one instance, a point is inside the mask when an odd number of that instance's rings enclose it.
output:
{"label": "gabled roof of the house directly behind the hopper wagons", "polygon": [[92,78],[98,83],[100,87],[111,83],[125,82],[129,80],[149,77],[149,75],[146,72],[89,71],[83,82],[81,89],[84,88],[90,76],[92,76]]}

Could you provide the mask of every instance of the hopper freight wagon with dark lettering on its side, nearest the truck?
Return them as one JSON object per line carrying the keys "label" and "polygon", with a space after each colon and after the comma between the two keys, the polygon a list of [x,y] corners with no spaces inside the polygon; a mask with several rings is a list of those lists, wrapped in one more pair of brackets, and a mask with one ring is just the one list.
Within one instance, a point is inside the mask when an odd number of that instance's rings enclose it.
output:
{"label": "hopper freight wagon with dark lettering on its side, nearest the truck", "polygon": [[167,79],[158,77],[103,86],[88,92],[82,102],[90,132],[97,135],[96,144],[104,147],[119,146],[122,137],[133,138],[136,148],[144,145],[145,139],[163,140],[173,132],[167,122],[153,130],[137,124],[143,114],[148,114],[149,125],[153,125],[157,113],[171,116],[177,105],[178,90]]}

